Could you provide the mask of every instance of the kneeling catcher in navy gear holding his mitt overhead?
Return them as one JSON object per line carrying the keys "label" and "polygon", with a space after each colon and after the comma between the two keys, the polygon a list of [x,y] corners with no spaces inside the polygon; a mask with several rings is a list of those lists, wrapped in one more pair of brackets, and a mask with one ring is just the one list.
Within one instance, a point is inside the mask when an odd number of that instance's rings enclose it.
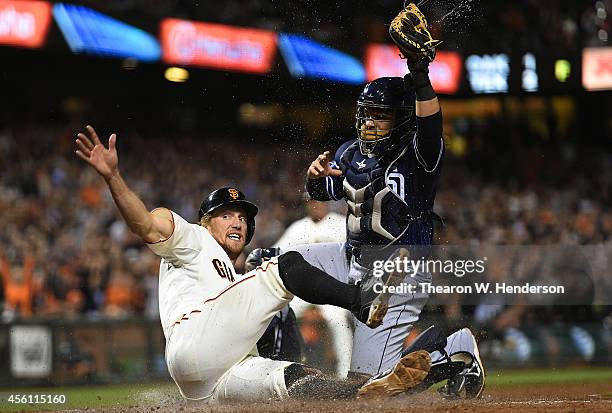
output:
{"label": "kneeling catcher in navy gear holding his mitt overhead", "polygon": [[[368,255],[373,250],[404,245],[426,251],[433,241],[444,140],[428,67],[440,42],[432,38],[425,17],[412,3],[393,19],[389,33],[410,74],[368,83],[357,100],[356,139],[341,145],[333,158],[330,152],[319,155],[307,173],[312,198],[347,202],[347,242],[291,248],[347,284],[371,277]],[[385,258],[379,254],[378,259]],[[411,282],[431,282],[431,274],[419,272]],[[417,291],[391,297],[380,327],[366,329],[355,323],[349,377],[377,374],[402,357],[404,340],[428,299]],[[425,384],[449,379],[444,395],[479,397],[485,376],[469,329],[434,341],[444,345],[430,351],[433,364]]]}

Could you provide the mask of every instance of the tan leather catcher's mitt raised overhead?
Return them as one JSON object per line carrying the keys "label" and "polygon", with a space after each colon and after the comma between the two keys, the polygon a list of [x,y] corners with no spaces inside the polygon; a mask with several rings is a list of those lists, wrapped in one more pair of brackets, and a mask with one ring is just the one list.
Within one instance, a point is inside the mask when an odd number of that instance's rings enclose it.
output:
{"label": "tan leather catcher's mitt raised overhead", "polygon": [[389,35],[405,59],[427,63],[435,59],[436,46],[440,44],[440,40],[431,37],[427,26],[427,19],[414,3],[406,6],[391,21]]}

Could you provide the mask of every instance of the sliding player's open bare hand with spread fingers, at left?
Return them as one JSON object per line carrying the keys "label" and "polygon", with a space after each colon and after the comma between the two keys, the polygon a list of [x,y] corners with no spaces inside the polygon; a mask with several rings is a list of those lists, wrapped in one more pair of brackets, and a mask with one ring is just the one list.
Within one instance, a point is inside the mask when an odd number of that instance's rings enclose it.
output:
{"label": "sliding player's open bare hand with spread fingers, at left", "polygon": [[117,135],[108,138],[108,149],[100,142],[96,130],[86,126],[87,134],[79,133],[76,139],[76,154],[79,158],[90,164],[105,179],[109,179],[118,172],[119,158],[117,157]]}

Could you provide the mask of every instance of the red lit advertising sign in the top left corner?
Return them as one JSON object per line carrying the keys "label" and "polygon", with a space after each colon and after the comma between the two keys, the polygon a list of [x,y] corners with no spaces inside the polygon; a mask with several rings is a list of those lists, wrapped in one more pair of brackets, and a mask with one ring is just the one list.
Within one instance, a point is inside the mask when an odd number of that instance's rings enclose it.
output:
{"label": "red lit advertising sign in the top left corner", "polygon": [[0,0],[0,44],[41,47],[50,23],[51,4],[46,1]]}

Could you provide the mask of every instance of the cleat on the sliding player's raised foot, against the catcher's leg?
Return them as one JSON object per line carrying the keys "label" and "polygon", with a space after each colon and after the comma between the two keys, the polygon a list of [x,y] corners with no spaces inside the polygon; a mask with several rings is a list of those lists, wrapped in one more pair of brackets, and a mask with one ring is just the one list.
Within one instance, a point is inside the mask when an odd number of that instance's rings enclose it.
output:
{"label": "cleat on the sliding player's raised foot, against the catcher's leg", "polygon": [[[407,249],[400,248],[397,257],[389,258],[389,260],[404,260],[408,254]],[[370,328],[380,326],[387,315],[389,300],[393,295],[389,292],[389,287],[399,285],[404,277],[404,273],[393,271],[381,277],[371,276],[365,281],[359,281],[361,304],[353,310],[355,317]]]}

